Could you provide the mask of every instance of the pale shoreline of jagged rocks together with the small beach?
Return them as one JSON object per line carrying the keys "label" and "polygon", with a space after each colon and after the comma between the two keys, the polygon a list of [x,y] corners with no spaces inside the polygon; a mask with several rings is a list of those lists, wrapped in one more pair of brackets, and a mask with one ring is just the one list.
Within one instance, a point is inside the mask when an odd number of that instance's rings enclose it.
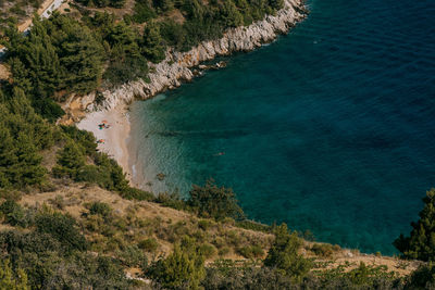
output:
{"label": "pale shoreline of jagged rocks together with the small beach", "polygon": [[[306,17],[303,0],[285,0],[284,8],[275,15],[268,15],[264,20],[249,26],[228,29],[221,39],[203,41],[188,52],[177,52],[169,49],[166,58],[158,63],[149,63],[149,83],[142,79],[130,81],[121,87],[101,92],[102,101],[96,104],[96,93],[84,97],[74,97],[65,105],[66,118],[62,124],[76,123],[77,127],[94,133],[98,150],[108,153],[122,166],[132,186],[146,189],[141,180],[151,178],[145,176],[141,168],[134,162],[130,153],[136,152],[134,142],[130,142],[130,124],[128,106],[135,100],[146,100],[163,92],[175,89],[182,81],[190,81],[198,74],[194,67],[211,61],[220,55],[229,55],[233,52],[252,51],[264,43],[275,40],[278,35],[288,30]],[[197,70],[195,70],[197,71]],[[70,104],[79,104],[80,112]],[[75,111],[75,113],[74,113]],[[84,117],[83,117],[84,116]],[[109,129],[99,129],[98,125],[108,121],[112,125]],[[137,160],[137,159],[135,159]],[[144,175],[140,178],[136,175]]]}

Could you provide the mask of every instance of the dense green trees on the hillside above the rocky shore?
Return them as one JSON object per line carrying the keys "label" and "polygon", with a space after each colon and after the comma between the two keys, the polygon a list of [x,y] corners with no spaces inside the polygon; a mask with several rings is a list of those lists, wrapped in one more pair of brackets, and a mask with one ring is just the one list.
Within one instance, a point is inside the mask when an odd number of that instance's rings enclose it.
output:
{"label": "dense green trees on the hillside above the rocky shore", "polygon": [[[39,2],[38,2],[39,3]],[[76,13],[34,18],[28,36],[15,22],[3,29],[7,63],[14,86],[34,110],[54,122],[63,111],[55,101],[136,78],[147,80],[147,62],[160,62],[167,47],[187,50],[199,41],[262,18],[282,8],[282,0],[210,1],[137,0],[123,18],[89,8],[122,8],[124,0],[76,1]],[[178,15],[177,21],[170,15]],[[145,27],[141,28],[141,24]]]}

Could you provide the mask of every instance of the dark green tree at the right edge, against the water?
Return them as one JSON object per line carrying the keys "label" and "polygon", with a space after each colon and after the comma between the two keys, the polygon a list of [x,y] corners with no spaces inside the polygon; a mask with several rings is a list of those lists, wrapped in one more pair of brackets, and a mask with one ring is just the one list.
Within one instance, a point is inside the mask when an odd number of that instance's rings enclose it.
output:
{"label": "dark green tree at the right edge, against the water", "polygon": [[420,219],[411,223],[410,237],[400,235],[394,245],[407,259],[435,261],[435,189],[426,192],[424,207],[419,213]]}

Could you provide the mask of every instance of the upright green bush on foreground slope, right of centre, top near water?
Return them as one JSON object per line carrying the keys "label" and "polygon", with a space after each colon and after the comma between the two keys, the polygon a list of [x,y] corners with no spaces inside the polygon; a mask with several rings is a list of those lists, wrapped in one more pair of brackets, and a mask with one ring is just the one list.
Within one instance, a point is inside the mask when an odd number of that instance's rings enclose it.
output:
{"label": "upright green bush on foreground slope, right of centre, top near water", "polygon": [[312,267],[312,263],[298,253],[302,241],[296,232],[288,232],[286,224],[277,226],[274,234],[275,241],[269,250],[264,265],[276,268],[295,280],[300,280]]}

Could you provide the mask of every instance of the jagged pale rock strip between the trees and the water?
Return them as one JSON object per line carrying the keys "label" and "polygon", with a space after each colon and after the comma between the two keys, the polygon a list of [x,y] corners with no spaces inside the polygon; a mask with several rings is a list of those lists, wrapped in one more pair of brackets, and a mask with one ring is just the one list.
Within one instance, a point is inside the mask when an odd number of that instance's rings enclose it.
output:
{"label": "jagged pale rock strip between the trees and the water", "polygon": [[110,110],[135,99],[148,99],[165,89],[181,86],[182,81],[195,77],[190,70],[201,62],[210,61],[217,55],[227,55],[237,51],[250,51],[285,34],[297,22],[304,17],[301,0],[285,0],[284,8],[276,15],[246,27],[228,29],[221,39],[203,41],[188,52],[166,51],[166,58],[159,64],[150,63],[149,83],[142,79],[102,92],[99,104],[94,102],[95,94],[82,98],[82,105],[88,111]]}

